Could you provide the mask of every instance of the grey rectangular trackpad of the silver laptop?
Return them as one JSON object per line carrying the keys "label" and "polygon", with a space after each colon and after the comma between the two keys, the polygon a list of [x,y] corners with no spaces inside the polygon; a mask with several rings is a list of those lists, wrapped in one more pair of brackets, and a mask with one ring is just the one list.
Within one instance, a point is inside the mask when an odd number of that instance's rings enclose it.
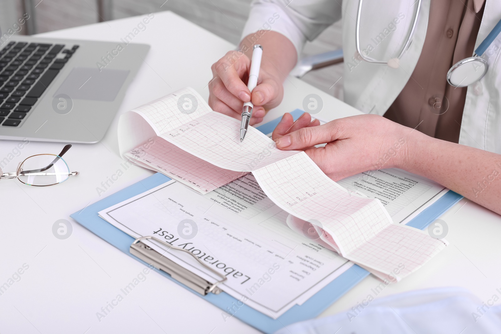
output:
{"label": "grey rectangular trackpad of the silver laptop", "polygon": [[75,67],[54,96],[66,94],[72,99],[114,101],[128,75],[128,70]]}

